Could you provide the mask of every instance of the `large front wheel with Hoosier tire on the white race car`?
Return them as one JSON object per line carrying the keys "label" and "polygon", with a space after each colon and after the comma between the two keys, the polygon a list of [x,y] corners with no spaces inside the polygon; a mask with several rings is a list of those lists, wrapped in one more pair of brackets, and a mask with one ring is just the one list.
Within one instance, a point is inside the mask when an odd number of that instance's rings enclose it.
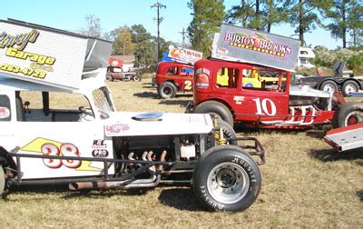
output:
{"label": "large front wheel with Hoosier tire on the white race car", "polygon": [[197,199],[212,211],[242,211],[253,204],[262,179],[259,166],[235,145],[218,145],[205,152],[193,173]]}

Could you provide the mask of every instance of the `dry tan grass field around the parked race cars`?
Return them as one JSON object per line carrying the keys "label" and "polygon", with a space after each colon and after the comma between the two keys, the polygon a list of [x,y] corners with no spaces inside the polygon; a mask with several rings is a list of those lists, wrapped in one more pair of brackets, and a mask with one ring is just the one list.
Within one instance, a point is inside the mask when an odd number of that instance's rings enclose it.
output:
{"label": "dry tan grass field around the parked race cars", "polygon": [[[183,112],[191,95],[160,100],[150,79],[108,83],[119,111]],[[172,128],[172,126],[171,126]],[[319,132],[244,130],[266,150],[262,188],[240,213],[206,212],[189,186],[71,193],[19,187],[0,201],[6,227],[345,227],[363,225],[363,152],[336,154]],[[313,135],[313,136],[311,136]]]}

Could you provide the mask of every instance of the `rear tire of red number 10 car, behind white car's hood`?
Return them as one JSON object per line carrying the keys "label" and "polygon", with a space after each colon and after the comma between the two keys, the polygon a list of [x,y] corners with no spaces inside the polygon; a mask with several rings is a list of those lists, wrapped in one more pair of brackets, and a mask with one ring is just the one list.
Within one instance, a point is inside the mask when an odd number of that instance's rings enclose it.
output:
{"label": "rear tire of red number 10 car, behind white car's hood", "polygon": [[197,105],[194,109],[194,113],[197,114],[211,114],[216,118],[219,118],[231,126],[233,126],[233,116],[231,114],[230,109],[217,101],[206,101]]}

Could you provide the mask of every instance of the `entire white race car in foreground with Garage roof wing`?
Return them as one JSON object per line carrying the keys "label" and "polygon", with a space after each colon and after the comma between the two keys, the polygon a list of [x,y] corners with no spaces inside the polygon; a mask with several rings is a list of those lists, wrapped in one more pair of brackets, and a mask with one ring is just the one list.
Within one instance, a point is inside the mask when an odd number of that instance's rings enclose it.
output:
{"label": "entire white race car in foreground with Garage roof wing", "polygon": [[3,196],[23,184],[182,182],[212,210],[256,200],[265,162],[256,138],[210,115],[116,112],[104,82],[110,42],[15,20],[1,20],[0,33]]}

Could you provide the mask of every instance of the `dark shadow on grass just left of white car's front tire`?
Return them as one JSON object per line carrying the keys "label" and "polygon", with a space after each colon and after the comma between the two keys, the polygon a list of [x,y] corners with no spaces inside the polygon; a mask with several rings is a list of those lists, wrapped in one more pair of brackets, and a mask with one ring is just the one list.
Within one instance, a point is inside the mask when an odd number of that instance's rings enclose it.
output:
{"label": "dark shadow on grass just left of white car's front tire", "polygon": [[195,198],[190,188],[172,188],[162,190],[159,201],[170,207],[186,211],[205,211]]}

